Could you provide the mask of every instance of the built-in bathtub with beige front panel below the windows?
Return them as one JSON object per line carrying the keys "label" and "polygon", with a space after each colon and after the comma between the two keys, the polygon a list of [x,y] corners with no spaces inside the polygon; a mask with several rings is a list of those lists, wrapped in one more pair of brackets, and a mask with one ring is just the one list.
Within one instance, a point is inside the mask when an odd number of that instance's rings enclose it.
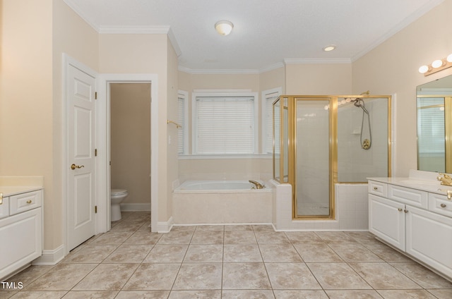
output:
{"label": "built-in bathtub with beige front panel below the windows", "polygon": [[253,187],[249,181],[185,181],[172,193],[173,223],[270,224],[273,188]]}

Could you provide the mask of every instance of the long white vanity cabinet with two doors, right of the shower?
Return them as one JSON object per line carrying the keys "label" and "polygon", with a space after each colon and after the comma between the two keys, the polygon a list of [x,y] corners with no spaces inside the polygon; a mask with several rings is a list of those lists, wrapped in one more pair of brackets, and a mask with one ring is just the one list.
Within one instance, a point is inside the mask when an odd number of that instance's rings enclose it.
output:
{"label": "long white vanity cabinet with two doors, right of the shower", "polygon": [[434,190],[369,181],[369,231],[452,279],[452,200]]}

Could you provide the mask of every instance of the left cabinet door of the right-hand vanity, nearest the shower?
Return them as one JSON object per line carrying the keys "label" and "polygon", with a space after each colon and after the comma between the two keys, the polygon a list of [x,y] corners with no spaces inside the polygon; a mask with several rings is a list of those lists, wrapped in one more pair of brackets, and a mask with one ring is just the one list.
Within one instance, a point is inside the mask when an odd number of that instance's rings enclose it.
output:
{"label": "left cabinet door of the right-hand vanity, nearest the shower", "polygon": [[369,231],[405,250],[405,205],[369,194]]}

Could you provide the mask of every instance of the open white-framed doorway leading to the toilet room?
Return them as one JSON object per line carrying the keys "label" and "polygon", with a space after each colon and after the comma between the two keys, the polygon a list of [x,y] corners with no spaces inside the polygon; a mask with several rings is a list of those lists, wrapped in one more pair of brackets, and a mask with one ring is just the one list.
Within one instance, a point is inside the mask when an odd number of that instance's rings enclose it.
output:
{"label": "open white-framed doorway leading to the toilet room", "polygon": [[[97,164],[98,169],[102,170],[102,175],[97,181],[99,185],[97,196],[107,198],[105,209],[108,213],[105,222],[102,220],[106,225],[105,231],[109,231],[111,228],[112,188],[125,189],[128,190],[128,193],[131,191],[124,199],[124,210],[149,211],[150,209],[151,231],[157,231],[157,75],[102,74],[99,86],[102,88],[99,90],[100,101],[98,101],[100,126],[97,130],[97,144],[100,152],[105,152],[106,155],[105,159],[102,157]],[[137,102],[141,102],[141,104]],[[138,126],[136,123],[141,123],[141,125]],[[130,126],[133,126],[133,129],[129,129]],[[117,135],[117,130],[125,129],[129,133],[123,132]],[[131,174],[127,174],[125,177],[121,171]],[[139,187],[136,187],[137,185]],[[137,191],[138,189],[140,191]]]}

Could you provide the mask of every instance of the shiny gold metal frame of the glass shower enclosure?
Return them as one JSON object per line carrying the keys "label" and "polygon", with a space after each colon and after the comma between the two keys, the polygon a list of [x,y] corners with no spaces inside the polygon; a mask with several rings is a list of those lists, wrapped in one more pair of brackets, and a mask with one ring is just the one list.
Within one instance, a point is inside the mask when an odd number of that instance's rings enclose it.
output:
{"label": "shiny gold metal frame of the glass shower enclosure", "polygon": [[[290,183],[292,185],[292,219],[335,219],[335,183],[338,182],[338,99],[339,98],[386,98],[388,99],[388,177],[391,177],[391,96],[388,95],[281,95],[273,102],[273,106],[280,102],[279,140],[275,140],[273,135],[273,178],[279,183]],[[328,101],[329,102],[329,215],[298,215],[297,214],[297,126],[296,111],[297,101]],[[287,106],[284,103],[287,102]],[[287,142],[284,140],[284,109],[287,109]],[[273,124],[275,115],[273,114]],[[274,126],[274,125],[273,125]],[[279,169],[275,166],[275,143],[279,142]],[[285,150],[287,148],[287,157]],[[286,160],[287,159],[287,160]],[[287,161],[285,179],[285,161]],[[279,172],[278,172],[279,171]],[[279,176],[276,176],[276,173]],[[281,179],[282,178],[282,179]],[[350,182],[347,182],[350,183]]]}

